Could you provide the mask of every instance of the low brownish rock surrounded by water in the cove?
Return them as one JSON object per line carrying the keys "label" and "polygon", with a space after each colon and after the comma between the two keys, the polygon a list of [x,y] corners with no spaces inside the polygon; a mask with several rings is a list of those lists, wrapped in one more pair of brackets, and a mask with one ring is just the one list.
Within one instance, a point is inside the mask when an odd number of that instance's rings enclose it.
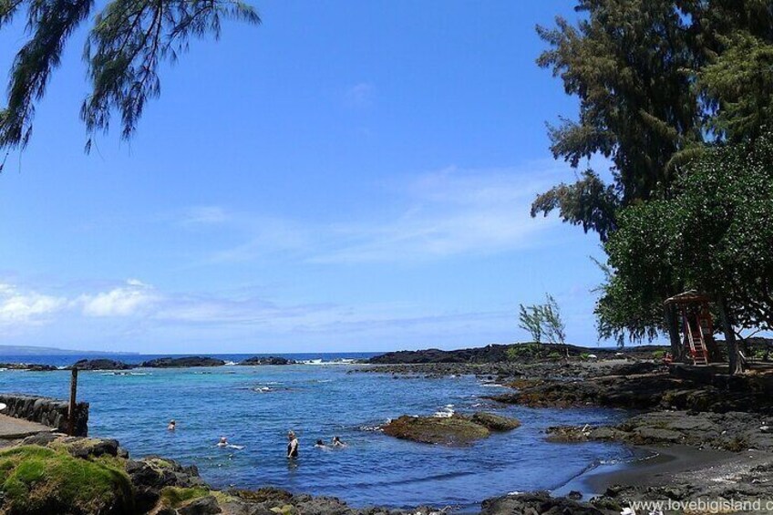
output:
{"label": "low brownish rock surrounded by water in the cove", "polygon": [[465,446],[480,438],[487,438],[491,431],[509,431],[520,426],[514,418],[490,413],[476,413],[472,417],[403,417],[391,420],[383,427],[390,437],[402,438],[427,444]]}

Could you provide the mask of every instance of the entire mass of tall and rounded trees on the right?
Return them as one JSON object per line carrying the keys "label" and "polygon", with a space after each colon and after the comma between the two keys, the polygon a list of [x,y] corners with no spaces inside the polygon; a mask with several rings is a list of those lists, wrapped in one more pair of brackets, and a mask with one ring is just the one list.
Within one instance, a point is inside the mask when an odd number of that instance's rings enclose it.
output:
{"label": "entire mass of tall and rounded trees on the right", "polygon": [[[765,2],[580,0],[577,25],[538,27],[538,63],[580,99],[550,128],[555,158],[582,171],[532,216],[596,232],[608,262],[600,335],[623,345],[674,328],[665,299],[716,301],[731,372],[737,329],[770,328],[773,9]],[[609,170],[593,162],[611,161]],[[611,180],[603,177],[611,176]]]}

